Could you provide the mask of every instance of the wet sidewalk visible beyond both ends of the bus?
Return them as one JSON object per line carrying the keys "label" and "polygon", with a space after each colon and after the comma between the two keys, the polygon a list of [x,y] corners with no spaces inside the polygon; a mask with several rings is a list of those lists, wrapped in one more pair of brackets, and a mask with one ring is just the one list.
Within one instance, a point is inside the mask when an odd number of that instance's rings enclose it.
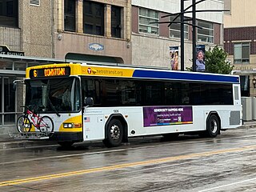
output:
{"label": "wet sidewalk visible beyond both ends of the bus", "polygon": [[[244,125],[238,127],[238,129],[250,129],[256,127],[256,121],[244,122]],[[10,138],[9,135],[0,135],[0,150],[14,149],[14,148],[29,148],[36,146],[58,146],[57,142],[47,140],[22,140],[18,138]]]}

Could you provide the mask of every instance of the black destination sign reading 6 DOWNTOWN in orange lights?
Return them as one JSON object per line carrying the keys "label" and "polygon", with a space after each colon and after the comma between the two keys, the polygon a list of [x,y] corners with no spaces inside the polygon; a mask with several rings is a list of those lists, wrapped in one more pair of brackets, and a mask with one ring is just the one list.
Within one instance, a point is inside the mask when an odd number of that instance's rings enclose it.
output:
{"label": "black destination sign reading 6 DOWNTOWN in orange lights", "polygon": [[70,75],[69,66],[30,70],[30,78],[56,77],[68,75]]}

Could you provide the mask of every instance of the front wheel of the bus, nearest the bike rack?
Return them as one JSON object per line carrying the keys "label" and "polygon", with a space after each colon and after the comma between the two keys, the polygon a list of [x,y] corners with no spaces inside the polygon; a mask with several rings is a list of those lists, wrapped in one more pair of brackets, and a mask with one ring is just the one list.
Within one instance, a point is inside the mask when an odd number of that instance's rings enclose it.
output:
{"label": "front wheel of the bus, nearest the bike rack", "polygon": [[122,143],[123,126],[118,119],[111,119],[106,126],[106,138],[103,143],[107,147],[120,146]]}

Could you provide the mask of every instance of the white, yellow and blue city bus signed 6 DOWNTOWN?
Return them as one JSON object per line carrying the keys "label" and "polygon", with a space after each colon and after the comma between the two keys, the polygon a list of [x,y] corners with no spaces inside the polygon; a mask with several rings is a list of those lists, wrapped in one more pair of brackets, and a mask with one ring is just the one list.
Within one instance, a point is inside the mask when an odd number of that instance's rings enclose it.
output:
{"label": "white, yellow and blue city bus signed 6 DOWNTOWN", "polygon": [[[62,63],[28,67],[24,83],[25,106],[43,106],[40,114],[54,122],[43,137],[61,146],[103,141],[112,147],[133,137],[186,133],[214,138],[242,125],[235,75]],[[42,137],[38,132],[30,130]]]}

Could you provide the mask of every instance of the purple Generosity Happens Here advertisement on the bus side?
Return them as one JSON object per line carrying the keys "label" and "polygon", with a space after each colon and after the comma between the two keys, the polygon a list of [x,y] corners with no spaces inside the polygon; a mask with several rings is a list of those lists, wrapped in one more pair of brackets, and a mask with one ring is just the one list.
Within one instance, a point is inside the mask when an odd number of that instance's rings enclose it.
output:
{"label": "purple Generosity Happens Here advertisement on the bus side", "polygon": [[144,126],[170,126],[193,123],[192,106],[143,107]]}

